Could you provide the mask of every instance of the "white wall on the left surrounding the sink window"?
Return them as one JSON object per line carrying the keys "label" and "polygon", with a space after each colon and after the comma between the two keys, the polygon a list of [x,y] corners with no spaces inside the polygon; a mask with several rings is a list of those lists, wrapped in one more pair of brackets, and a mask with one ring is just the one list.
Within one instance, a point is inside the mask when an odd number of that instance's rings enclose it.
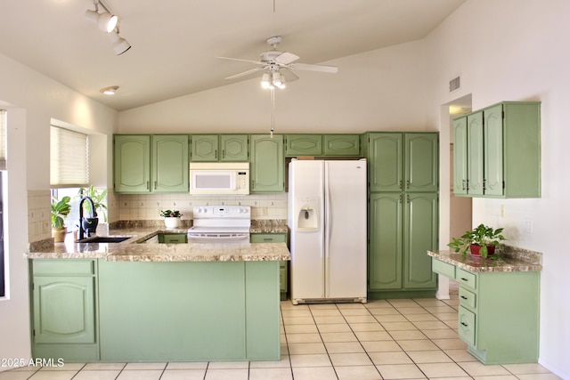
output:
{"label": "white wall on the left surrounding the sink window", "polygon": [[[31,215],[29,193],[45,191],[49,202],[50,121],[52,118],[87,130],[111,133],[117,112],[44,77],[0,54],[0,106],[8,109],[8,183],[4,204],[8,296],[0,299],[0,358],[30,356],[28,311],[28,223],[50,214]],[[109,145],[110,146],[110,145]],[[104,165],[109,165],[110,156]],[[110,167],[108,167],[110,169]],[[49,206],[49,204],[47,205]],[[0,368],[4,370],[7,368]]]}

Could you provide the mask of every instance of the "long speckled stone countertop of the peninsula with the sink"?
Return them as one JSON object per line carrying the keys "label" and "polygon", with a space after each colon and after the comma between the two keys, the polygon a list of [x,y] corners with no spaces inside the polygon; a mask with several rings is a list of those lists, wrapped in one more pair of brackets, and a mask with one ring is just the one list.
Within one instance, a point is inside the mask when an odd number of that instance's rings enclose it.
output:
{"label": "long speckled stone countertop of the peninsula with the sink", "polygon": [[[135,227],[110,230],[109,236],[130,237],[120,243],[77,243],[71,234],[63,243],[34,244],[29,259],[104,258],[110,262],[228,262],[289,261],[285,243],[143,243],[158,233],[186,233],[186,229]],[[52,240],[53,241],[53,240]]]}

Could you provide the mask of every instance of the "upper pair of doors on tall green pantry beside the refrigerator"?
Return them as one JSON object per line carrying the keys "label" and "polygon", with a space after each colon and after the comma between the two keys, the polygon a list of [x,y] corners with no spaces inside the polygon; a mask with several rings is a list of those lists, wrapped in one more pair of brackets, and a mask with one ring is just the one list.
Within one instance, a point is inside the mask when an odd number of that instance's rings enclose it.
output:
{"label": "upper pair of doors on tall green pantry beside the refrigerator", "polygon": [[438,190],[437,133],[369,133],[371,192]]}

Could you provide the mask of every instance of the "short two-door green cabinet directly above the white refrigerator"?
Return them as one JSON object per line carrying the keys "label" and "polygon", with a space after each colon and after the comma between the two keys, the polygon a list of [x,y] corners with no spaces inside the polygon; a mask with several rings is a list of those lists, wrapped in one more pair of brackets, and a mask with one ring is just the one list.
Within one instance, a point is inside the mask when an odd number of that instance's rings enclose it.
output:
{"label": "short two-door green cabinet directly above the white refrigerator", "polygon": [[285,157],[359,157],[358,134],[288,134]]}

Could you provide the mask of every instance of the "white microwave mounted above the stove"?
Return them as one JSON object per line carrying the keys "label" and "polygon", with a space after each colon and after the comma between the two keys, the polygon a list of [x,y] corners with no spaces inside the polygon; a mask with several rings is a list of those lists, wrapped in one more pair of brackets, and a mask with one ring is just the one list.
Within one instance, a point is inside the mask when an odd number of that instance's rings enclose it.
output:
{"label": "white microwave mounted above the stove", "polygon": [[202,195],[249,194],[248,162],[192,162],[190,193]]}

